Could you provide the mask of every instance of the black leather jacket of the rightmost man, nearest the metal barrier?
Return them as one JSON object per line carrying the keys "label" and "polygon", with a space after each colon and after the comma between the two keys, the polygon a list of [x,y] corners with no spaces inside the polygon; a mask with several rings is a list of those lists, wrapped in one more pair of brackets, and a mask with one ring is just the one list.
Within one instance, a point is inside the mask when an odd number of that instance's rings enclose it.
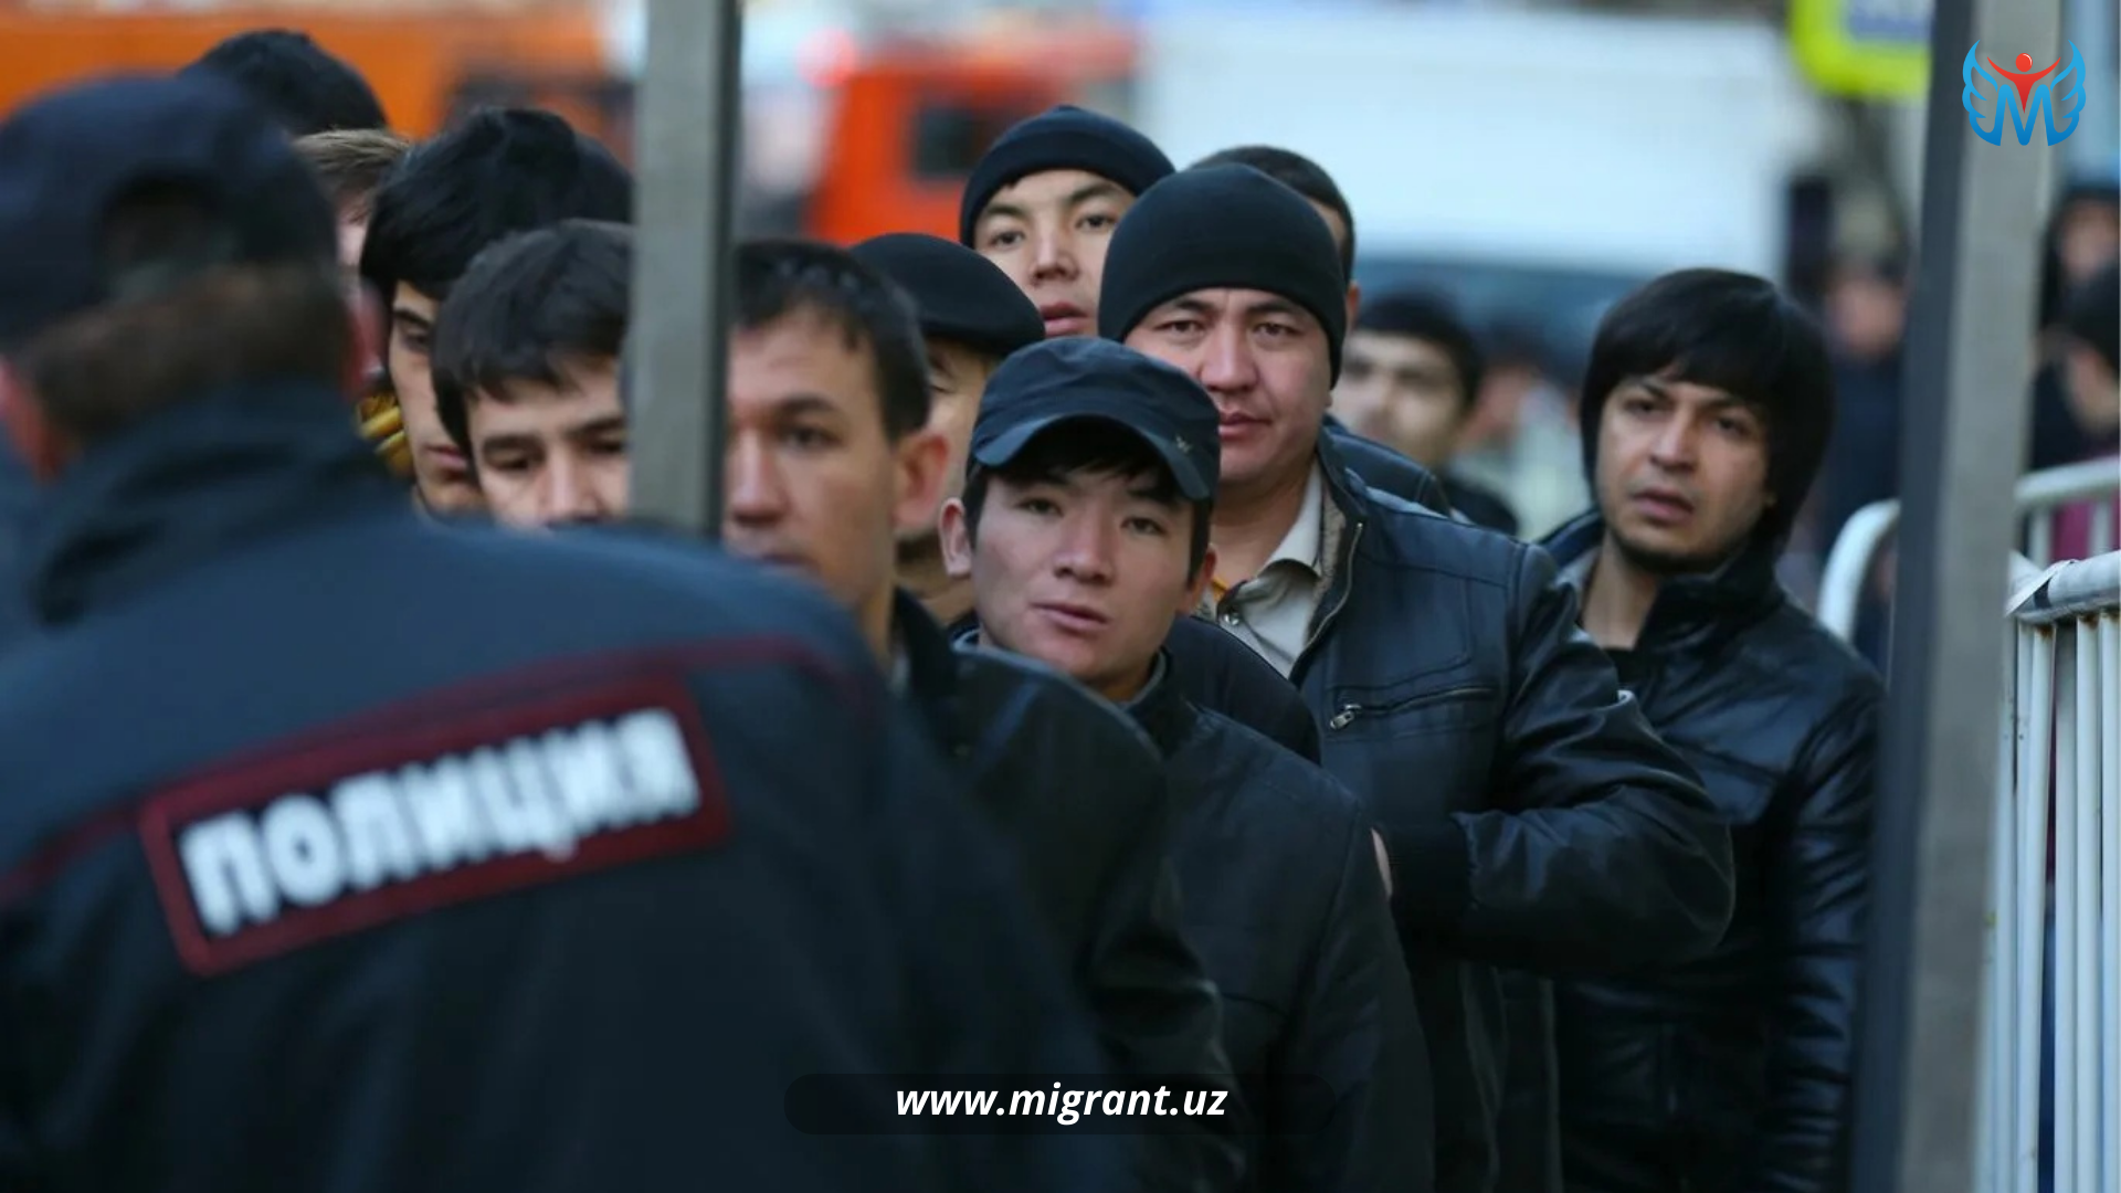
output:
{"label": "black leather jacket of the rightmost man, nearest the metal barrier", "polygon": [[[1548,546],[1582,575],[1595,516]],[[1847,1193],[1883,684],[1760,543],[1669,580],[1620,681],[1731,826],[1737,911],[1688,964],[1557,983],[1563,1157],[1601,1193]]]}

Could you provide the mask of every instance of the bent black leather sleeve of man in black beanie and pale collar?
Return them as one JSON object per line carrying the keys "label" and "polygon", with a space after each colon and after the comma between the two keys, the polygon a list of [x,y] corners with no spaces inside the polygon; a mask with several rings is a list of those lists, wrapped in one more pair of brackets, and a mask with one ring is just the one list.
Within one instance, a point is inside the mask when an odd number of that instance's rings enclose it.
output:
{"label": "bent black leather sleeve of man in black beanie and pale collar", "polygon": [[1521,548],[1508,603],[1493,807],[1393,832],[1393,906],[1453,953],[1544,976],[1707,953],[1731,923],[1731,832],[1546,552]]}

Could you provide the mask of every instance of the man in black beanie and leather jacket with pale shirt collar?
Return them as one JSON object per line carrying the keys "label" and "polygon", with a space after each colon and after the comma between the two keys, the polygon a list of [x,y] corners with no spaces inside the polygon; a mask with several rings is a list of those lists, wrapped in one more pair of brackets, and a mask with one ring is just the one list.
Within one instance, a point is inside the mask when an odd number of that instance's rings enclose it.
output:
{"label": "man in black beanie and leather jacket with pale shirt collar", "polygon": [[1296,681],[1328,771],[1383,832],[1432,1044],[1436,1189],[1489,1193],[1500,968],[1707,953],[1731,919],[1729,830],[1578,633],[1544,552],[1330,465],[1345,282],[1296,191],[1245,166],[1150,187],[1111,240],[1099,327],[1215,399],[1217,567],[1200,613]]}

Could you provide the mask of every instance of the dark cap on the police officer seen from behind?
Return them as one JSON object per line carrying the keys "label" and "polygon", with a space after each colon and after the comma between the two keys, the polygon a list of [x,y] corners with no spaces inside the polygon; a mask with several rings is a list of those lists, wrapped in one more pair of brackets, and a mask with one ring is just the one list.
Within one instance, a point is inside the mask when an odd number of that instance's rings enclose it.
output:
{"label": "dark cap on the police officer seen from behind", "polygon": [[[170,197],[208,214],[117,253],[112,210]],[[221,265],[337,261],[337,217],[271,113],[212,76],[115,76],[45,93],[0,123],[0,352],[106,304]]]}

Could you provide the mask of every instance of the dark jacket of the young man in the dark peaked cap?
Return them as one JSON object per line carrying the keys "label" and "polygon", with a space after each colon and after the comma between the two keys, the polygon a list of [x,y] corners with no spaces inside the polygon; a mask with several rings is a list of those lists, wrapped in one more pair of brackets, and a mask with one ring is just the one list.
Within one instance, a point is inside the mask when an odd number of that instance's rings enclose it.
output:
{"label": "dark jacket of the young man in the dark peaked cap", "polygon": [[1128,711],[1164,751],[1186,936],[1260,1131],[1245,1189],[1427,1193],[1427,1051],[1362,802],[1196,709],[1169,656]]}

